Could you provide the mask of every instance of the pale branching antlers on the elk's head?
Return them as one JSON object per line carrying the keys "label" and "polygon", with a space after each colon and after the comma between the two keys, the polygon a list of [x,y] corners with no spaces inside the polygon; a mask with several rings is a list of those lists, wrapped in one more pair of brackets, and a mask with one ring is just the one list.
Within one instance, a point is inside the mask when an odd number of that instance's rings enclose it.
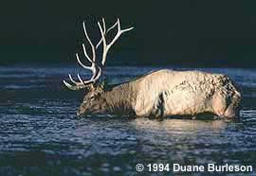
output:
{"label": "pale branching antlers on the elk's head", "polygon": [[[99,26],[100,31],[101,31],[101,40],[100,40],[100,42],[95,47],[94,44],[92,44],[92,42],[91,42],[91,40],[90,40],[90,38],[89,38],[89,36],[87,34],[84,22],[82,23],[82,26],[83,26],[83,31],[84,31],[85,37],[86,37],[87,41],[89,42],[89,44],[91,45],[92,59],[88,56],[88,53],[86,51],[86,47],[85,47],[84,44],[82,44],[83,54],[86,57],[86,59],[91,63],[91,66],[84,65],[81,62],[78,53],[76,54],[76,57],[77,57],[77,61],[82,66],[82,68],[84,68],[86,70],[92,71],[93,74],[92,74],[91,79],[89,79],[89,80],[82,80],[82,78],[78,74],[77,77],[78,77],[79,81],[74,80],[71,77],[71,75],[69,74],[68,75],[69,79],[71,80],[71,82],[74,85],[71,85],[71,84],[67,83],[65,80],[64,80],[64,85],[67,88],[71,89],[71,90],[80,90],[80,89],[86,88],[86,87],[88,87],[88,85],[90,85],[92,83],[95,83],[97,80],[99,80],[100,77],[101,77],[102,69],[101,69],[101,66],[99,66],[97,64],[97,62],[96,62],[96,50],[99,48],[101,43],[103,43],[103,52],[102,52],[101,65],[104,66],[104,64],[106,62],[107,53],[108,53],[109,49],[111,48],[111,46],[118,41],[118,39],[119,39],[119,37],[120,37],[120,35],[122,33],[130,31],[130,30],[132,30],[134,28],[134,27],[130,27],[130,28],[127,28],[127,29],[121,29],[120,28],[120,22],[119,22],[119,19],[118,19],[118,21],[113,26],[111,26],[108,29],[106,29],[104,18],[102,18],[102,26],[101,26],[101,23],[98,22],[98,26]],[[113,38],[113,40],[109,44],[107,44],[107,42],[106,42],[106,34],[108,32],[110,32],[113,28],[115,28],[116,26],[118,26],[118,32],[117,32],[116,36]]]}

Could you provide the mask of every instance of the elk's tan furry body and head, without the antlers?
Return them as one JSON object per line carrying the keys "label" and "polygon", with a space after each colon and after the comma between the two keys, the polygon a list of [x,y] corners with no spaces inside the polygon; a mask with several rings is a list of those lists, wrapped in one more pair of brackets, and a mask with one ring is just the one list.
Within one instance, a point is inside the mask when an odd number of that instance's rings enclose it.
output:
{"label": "elk's tan furry body and head, without the antlers", "polygon": [[159,117],[212,113],[231,118],[238,115],[240,99],[225,75],[159,70],[106,92],[92,91],[84,97],[78,114]]}

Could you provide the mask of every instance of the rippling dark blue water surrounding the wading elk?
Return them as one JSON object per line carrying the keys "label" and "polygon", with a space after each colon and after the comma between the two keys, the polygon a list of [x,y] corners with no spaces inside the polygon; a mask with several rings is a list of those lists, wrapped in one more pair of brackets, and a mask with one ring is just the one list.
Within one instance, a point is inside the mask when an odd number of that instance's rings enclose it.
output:
{"label": "rippling dark blue water surrounding the wading elk", "polygon": [[[154,69],[113,67],[106,74],[117,83]],[[0,175],[135,175],[137,163],[256,168],[256,71],[201,70],[225,73],[242,87],[241,119],[77,118],[82,93],[61,83],[75,68],[1,67]]]}

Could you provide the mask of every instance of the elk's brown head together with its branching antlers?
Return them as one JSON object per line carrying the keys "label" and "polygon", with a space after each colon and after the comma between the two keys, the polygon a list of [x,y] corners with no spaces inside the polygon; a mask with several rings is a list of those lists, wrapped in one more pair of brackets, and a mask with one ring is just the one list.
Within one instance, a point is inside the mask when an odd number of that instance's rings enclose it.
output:
{"label": "elk's brown head together with its branching antlers", "polygon": [[[75,80],[71,77],[69,74],[69,79],[73,83],[72,85],[69,84],[64,80],[64,85],[74,91],[81,90],[81,89],[86,89],[86,94],[85,97],[83,98],[82,105],[78,108],[77,114],[90,114],[90,113],[105,113],[106,112],[106,101],[102,95],[104,94],[104,87],[101,82],[99,82],[102,74],[102,68],[105,65],[106,58],[107,58],[107,53],[111,46],[115,44],[120,35],[123,34],[124,32],[132,30],[134,27],[126,28],[126,29],[121,29],[120,27],[120,22],[119,19],[118,21],[108,29],[106,29],[105,21],[102,19],[102,26],[101,23],[98,22],[98,26],[101,31],[101,40],[100,42],[95,46],[92,44],[92,41],[90,40],[88,33],[86,31],[85,23],[82,23],[83,25],[83,31],[85,34],[85,37],[88,41],[88,43],[91,46],[91,51],[92,51],[92,57],[89,57],[85,44],[82,44],[82,49],[83,49],[83,54],[85,58],[91,63],[90,66],[87,66],[82,63],[79,54],[76,54],[77,62],[82,66],[82,68],[86,70],[90,70],[92,72],[92,76],[88,80],[82,80],[81,76],[78,74],[78,80]],[[112,39],[111,42],[106,41],[106,35],[113,30],[115,27],[118,27],[118,31],[116,36]],[[99,64],[96,62],[96,51],[102,44],[102,56],[101,56],[101,63]]]}

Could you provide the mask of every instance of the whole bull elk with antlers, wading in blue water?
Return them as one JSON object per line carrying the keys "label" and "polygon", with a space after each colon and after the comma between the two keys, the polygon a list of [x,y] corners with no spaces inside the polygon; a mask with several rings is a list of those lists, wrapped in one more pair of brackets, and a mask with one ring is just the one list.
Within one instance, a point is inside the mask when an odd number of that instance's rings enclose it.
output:
{"label": "whole bull elk with antlers, wading in blue water", "polygon": [[[129,82],[113,85],[105,90],[100,82],[102,68],[105,65],[109,49],[117,42],[120,35],[133,29],[121,29],[119,19],[114,26],[106,29],[104,19],[98,22],[101,40],[92,44],[83,22],[83,30],[91,46],[92,57],[89,57],[85,45],[83,53],[88,62],[82,63],[78,54],[77,62],[92,72],[88,80],[78,75],[73,83],[64,80],[64,85],[71,90],[86,89],[82,105],[77,114],[131,114],[137,116],[172,116],[196,115],[203,113],[215,114],[220,117],[235,117],[239,112],[240,93],[233,82],[225,75],[211,74],[201,71],[158,70]],[[117,34],[112,41],[106,41],[106,35],[115,27]],[[102,44],[101,62],[96,62],[96,50]]]}

